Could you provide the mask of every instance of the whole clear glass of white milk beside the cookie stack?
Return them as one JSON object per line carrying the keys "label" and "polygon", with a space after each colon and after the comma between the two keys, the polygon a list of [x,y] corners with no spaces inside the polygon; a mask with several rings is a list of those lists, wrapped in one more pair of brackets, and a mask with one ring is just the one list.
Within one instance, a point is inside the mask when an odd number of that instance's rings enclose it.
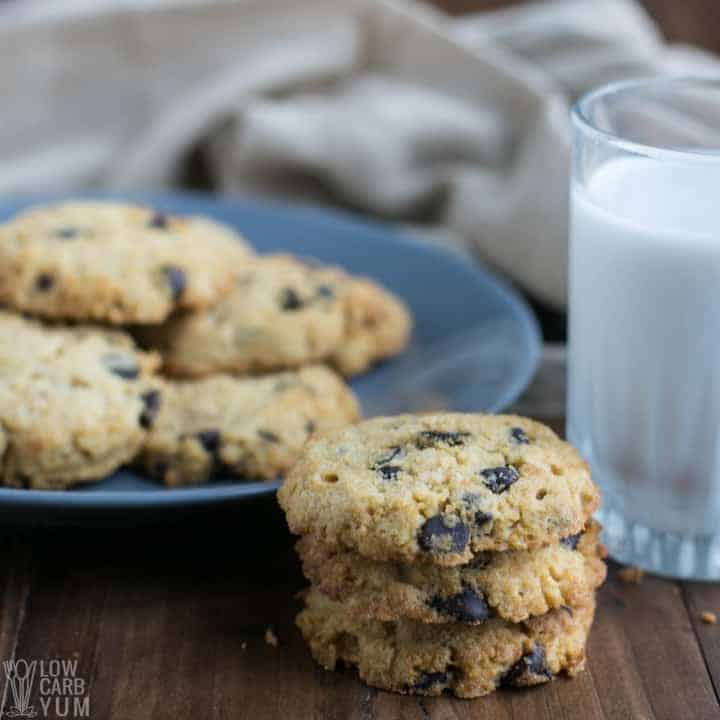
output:
{"label": "whole clear glass of white milk beside the cookie stack", "polygon": [[610,553],[720,579],[720,82],[653,79],[573,110],[569,440]]}

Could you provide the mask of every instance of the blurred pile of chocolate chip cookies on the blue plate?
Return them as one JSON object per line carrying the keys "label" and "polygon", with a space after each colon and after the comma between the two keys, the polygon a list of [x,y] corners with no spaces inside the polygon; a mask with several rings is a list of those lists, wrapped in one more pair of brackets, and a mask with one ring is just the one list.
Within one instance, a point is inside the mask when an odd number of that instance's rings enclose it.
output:
{"label": "blurred pile of chocolate chip cookies on the blue plate", "polygon": [[410,332],[370,280],[107,202],[0,225],[0,303],[0,478],[26,488],[127,463],[168,485],[273,480],[358,419],[343,376]]}

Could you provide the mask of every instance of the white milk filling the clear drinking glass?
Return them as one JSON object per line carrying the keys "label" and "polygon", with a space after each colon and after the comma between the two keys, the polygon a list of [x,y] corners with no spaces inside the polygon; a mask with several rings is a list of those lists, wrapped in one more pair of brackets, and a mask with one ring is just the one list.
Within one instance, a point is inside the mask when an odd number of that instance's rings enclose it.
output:
{"label": "white milk filling the clear drinking glass", "polygon": [[718,533],[717,160],[614,160],[572,193],[569,438],[626,521]]}

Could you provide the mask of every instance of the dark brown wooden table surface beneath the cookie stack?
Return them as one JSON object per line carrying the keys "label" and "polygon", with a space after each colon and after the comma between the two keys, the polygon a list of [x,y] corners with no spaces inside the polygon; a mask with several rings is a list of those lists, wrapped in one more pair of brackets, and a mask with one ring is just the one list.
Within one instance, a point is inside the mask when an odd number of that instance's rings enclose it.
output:
{"label": "dark brown wooden table surface beneath the cookie stack", "polygon": [[[558,429],[563,357],[546,351],[517,407]],[[700,620],[720,611],[718,585],[629,585],[611,566],[587,672],[474,701],[420,699],[313,663],[293,625],[305,583],[292,545],[273,498],[163,525],[6,531],[0,660],[76,659],[97,720],[720,718],[720,624]]]}

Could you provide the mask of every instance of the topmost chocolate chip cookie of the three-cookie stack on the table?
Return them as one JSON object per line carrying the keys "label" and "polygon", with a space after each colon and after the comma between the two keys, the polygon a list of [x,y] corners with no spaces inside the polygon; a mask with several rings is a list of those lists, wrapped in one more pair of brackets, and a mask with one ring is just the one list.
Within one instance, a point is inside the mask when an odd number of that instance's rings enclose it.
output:
{"label": "topmost chocolate chip cookie of the three-cookie stack on the table", "polygon": [[587,464],[512,415],[375,418],[308,443],[278,493],[290,529],[378,560],[461,565],[580,532]]}

